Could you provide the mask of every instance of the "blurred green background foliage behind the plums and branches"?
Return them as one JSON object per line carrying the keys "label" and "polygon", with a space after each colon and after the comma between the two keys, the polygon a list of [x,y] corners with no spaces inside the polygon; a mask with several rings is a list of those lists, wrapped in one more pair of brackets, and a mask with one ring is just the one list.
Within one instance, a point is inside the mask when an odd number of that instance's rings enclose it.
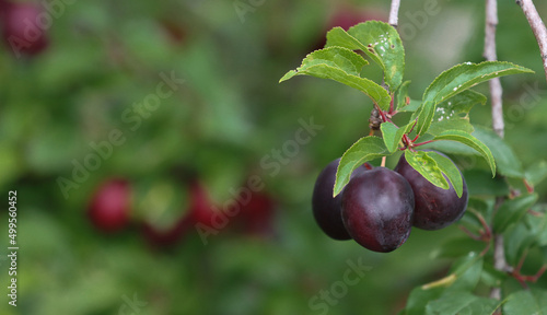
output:
{"label": "blurred green background foliage behind the plums and branches", "polygon": [[[7,45],[0,50],[0,187],[5,199],[18,190],[20,246],[16,308],[4,300],[9,261],[7,245],[0,248],[1,314],[327,314],[314,308],[314,296],[330,290],[339,298],[324,304],[328,314],[396,314],[414,287],[444,275],[450,260],[431,255],[463,235],[457,226],[412,230],[391,254],[319,231],[310,201],[315,177],[369,133],[372,103],[331,81],[278,84],[318,47],[338,10],[385,20],[389,1],[57,2],[62,13],[47,30],[43,54],[15,58]],[[453,65],[484,60],[482,1],[403,2],[412,97]],[[547,19],[547,3],[536,2]],[[424,14],[424,5],[437,13]],[[501,80],[507,139],[527,165],[547,156],[547,84],[520,8],[500,1],[499,14],[499,59],[536,71]],[[184,83],[138,126],[124,120],[156,93],[162,75]],[[487,94],[488,84],[476,90]],[[478,106],[472,121],[489,126],[489,115],[488,105]],[[272,150],[287,150],[310,119],[323,128],[276,162]],[[59,177],[72,178],[73,161],[83,163],[94,152],[90,143],[106,141],[114,129],[126,141],[63,196]],[[147,243],[137,225],[104,234],[90,223],[93,191],[115,176],[138,187],[136,220],[160,211],[156,203],[184,213],[187,187],[172,176],[181,168],[197,174],[218,205],[259,176],[276,202],[274,236],[226,228],[207,245],[188,233],[165,249]],[[176,196],[144,202],[159,183]],[[546,202],[547,186],[537,190]],[[8,244],[8,211],[0,218],[0,243]],[[352,264],[369,271],[344,287]]]}

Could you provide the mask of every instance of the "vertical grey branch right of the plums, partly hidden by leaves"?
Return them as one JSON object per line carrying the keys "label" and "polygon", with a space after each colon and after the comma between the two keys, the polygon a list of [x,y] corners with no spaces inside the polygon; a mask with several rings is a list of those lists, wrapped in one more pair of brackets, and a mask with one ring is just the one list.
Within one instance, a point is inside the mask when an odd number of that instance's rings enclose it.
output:
{"label": "vertical grey branch right of the plums, partly hidden by leaves", "polygon": [[[498,2],[497,0],[486,0],[486,30],[485,30],[485,52],[484,57],[488,61],[494,61],[498,59],[496,52],[496,28],[498,26]],[[499,78],[490,80],[490,98],[492,105],[492,128],[503,138],[504,133],[504,122],[503,122],[503,103],[502,94],[503,90],[501,88],[501,82]],[[496,200],[496,208],[503,202],[503,198],[498,198]],[[505,260],[505,250],[503,248],[503,236],[494,235],[493,237],[493,267],[497,270],[504,271],[508,267]],[[501,289],[492,288],[490,291],[490,298],[501,300]]]}

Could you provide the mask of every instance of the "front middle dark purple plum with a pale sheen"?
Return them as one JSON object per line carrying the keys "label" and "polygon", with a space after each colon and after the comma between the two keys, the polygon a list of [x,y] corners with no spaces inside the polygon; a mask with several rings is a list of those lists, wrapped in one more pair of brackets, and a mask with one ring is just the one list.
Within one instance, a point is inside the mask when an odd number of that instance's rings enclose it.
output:
{"label": "front middle dark purple plum with a pale sheen", "polygon": [[400,174],[376,167],[351,178],[342,191],[341,209],[344,224],[357,243],[388,253],[410,235],[412,188]]}

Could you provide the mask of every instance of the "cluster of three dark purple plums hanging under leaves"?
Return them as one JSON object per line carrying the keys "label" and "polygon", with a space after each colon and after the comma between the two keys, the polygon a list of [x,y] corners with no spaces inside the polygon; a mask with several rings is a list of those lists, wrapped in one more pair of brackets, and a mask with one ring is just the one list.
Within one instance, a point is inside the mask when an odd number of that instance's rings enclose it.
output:
{"label": "cluster of three dark purple plums hanging under leaves", "polygon": [[353,238],[370,250],[388,253],[407,241],[412,226],[430,231],[445,228],[459,220],[467,208],[465,179],[458,198],[452,183],[449,189],[434,186],[405,155],[394,171],[369,163],[359,166],[342,191],[333,197],[339,162],[330,162],[321,172],[312,196],[315,221],[334,240]]}

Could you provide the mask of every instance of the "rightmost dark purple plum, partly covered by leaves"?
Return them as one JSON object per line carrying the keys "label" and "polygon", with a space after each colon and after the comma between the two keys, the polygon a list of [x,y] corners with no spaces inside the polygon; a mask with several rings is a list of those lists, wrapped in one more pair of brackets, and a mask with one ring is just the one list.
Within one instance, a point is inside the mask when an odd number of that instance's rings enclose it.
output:
{"label": "rightmost dark purple plum, partly covered by leaves", "polygon": [[[437,153],[447,158],[440,152]],[[418,171],[414,170],[408,164],[405,155],[400,156],[397,166],[395,166],[395,172],[403,175],[412,187],[416,202],[414,226],[430,231],[439,230],[456,222],[464,215],[469,196],[467,195],[467,185],[463,176],[464,190],[462,197],[457,198],[456,190],[454,190],[454,186],[452,186],[450,180],[449,189],[437,187],[421,176]]]}

